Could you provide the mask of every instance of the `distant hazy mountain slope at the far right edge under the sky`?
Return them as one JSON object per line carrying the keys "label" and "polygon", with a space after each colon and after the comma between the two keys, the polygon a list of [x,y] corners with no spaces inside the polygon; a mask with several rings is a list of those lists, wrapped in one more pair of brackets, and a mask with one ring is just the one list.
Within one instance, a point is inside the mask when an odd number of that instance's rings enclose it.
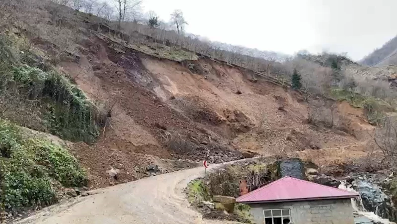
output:
{"label": "distant hazy mountain slope at the far right edge under the sky", "polygon": [[368,66],[397,65],[397,36],[365,56],[360,63]]}

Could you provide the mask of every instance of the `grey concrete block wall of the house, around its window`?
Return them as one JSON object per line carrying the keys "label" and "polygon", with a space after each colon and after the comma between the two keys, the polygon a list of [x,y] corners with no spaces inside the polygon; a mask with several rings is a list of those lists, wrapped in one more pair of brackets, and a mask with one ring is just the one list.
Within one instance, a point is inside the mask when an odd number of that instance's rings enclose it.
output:
{"label": "grey concrete block wall of the house, around its window", "polygon": [[256,224],[264,224],[263,210],[290,209],[294,224],[354,224],[350,199],[250,204]]}

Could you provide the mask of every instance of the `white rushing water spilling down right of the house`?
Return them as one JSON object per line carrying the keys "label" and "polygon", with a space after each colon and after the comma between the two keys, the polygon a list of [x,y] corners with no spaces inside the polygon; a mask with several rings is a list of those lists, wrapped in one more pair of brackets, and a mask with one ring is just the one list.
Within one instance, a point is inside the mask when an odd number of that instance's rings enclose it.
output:
{"label": "white rushing water spilling down right of the house", "polygon": [[[359,193],[356,190],[354,190],[350,185],[346,184],[346,181],[342,181],[338,188],[347,190],[350,192]],[[357,219],[355,219],[356,224],[371,224],[371,223],[396,224],[394,222],[391,222],[387,219],[383,219],[383,218],[379,217],[378,215],[376,215],[376,214],[378,214],[378,212],[377,212],[378,207],[376,207],[375,213],[368,212],[364,208],[363,200],[361,197],[359,197],[357,199],[352,199],[351,204],[352,204],[354,213],[361,215],[361,217],[358,217]],[[364,217],[367,218],[368,221]]]}

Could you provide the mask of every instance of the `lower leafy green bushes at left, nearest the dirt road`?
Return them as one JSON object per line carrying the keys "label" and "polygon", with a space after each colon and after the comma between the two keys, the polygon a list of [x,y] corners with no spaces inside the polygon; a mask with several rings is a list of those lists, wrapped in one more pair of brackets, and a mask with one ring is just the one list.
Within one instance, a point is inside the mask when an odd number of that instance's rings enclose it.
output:
{"label": "lower leafy green bushes at left, nearest the dirt road", "polygon": [[41,139],[24,140],[18,127],[0,120],[0,210],[15,212],[57,202],[56,183],[86,185],[87,178],[69,152]]}

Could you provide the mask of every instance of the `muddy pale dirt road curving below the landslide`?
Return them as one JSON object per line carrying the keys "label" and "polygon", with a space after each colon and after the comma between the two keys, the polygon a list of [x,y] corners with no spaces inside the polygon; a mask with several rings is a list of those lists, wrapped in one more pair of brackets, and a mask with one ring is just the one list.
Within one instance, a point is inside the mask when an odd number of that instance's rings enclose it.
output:
{"label": "muddy pale dirt road curving below the landslide", "polygon": [[194,168],[101,189],[69,206],[56,206],[20,224],[226,224],[202,220],[183,189],[204,175]]}

